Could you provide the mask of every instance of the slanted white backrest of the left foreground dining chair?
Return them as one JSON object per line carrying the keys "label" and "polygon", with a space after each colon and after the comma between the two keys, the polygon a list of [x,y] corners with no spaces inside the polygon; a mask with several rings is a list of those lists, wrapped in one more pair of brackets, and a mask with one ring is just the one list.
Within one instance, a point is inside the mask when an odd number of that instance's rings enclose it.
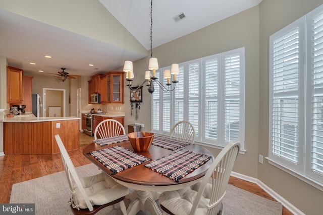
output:
{"label": "slanted white backrest of the left foreground dining chair", "polygon": [[[66,149],[65,149],[65,146],[63,144],[63,141],[60,137],[59,134],[56,134],[55,135],[55,139],[57,141],[57,144],[60,148],[60,151],[61,151],[61,155],[62,155],[62,160],[63,160],[63,165],[64,165],[64,169],[65,169],[65,173],[66,173],[66,177],[67,177],[67,181],[69,183],[69,186],[70,186],[70,191],[71,191],[71,194],[72,194],[72,199],[71,201],[74,202],[75,205],[78,205],[78,202],[77,202],[77,198],[75,196],[75,185],[77,186],[77,188],[79,189],[80,193],[82,194],[82,197],[84,198],[85,200],[85,203],[88,207],[88,209],[90,211],[93,210],[93,206],[92,204],[90,203],[90,200],[88,198],[88,196],[86,195],[85,193],[85,190],[82,186],[82,183],[80,181],[80,178],[75,170],[75,167],[72,163],[72,160],[69,156],[69,154],[67,153]],[[74,183],[73,183],[74,181]]]}

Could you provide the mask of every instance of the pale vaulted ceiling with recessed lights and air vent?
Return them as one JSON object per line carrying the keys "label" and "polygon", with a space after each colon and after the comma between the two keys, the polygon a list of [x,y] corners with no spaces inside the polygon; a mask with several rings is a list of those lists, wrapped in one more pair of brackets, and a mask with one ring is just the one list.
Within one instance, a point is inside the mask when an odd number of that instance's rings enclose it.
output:
{"label": "pale vaulted ceiling with recessed lights and air vent", "polygon": [[[260,2],[153,1],[152,46]],[[134,61],[149,54],[150,9],[149,0],[0,0],[0,56],[7,57],[9,65],[38,75],[56,74],[61,67],[70,74],[84,76],[113,70],[125,60]]]}

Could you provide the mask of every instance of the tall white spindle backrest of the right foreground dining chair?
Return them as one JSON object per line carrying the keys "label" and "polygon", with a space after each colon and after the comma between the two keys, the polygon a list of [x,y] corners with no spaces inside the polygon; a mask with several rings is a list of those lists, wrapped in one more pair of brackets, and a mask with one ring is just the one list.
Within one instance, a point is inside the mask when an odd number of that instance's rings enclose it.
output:
{"label": "tall white spindle backrest of the right foreground dining chair", "polygon": [[221,208],[222,199],[226,194],[230,174],[232,172],[239,150],[239,142],[230,142],[220,152],[216,159],[214,159],[212,165],[207,170],[205,176],[203,176],[202,178],[201,185],[196,194],[196,198],[194,200],[190,215],[195,213],[197,205],[200,202],[202,193],[204,192],[205,187],[210,178],[212,180],[212,190],[210,192],[210,202],[207,205],[206,214],[218,214]]}

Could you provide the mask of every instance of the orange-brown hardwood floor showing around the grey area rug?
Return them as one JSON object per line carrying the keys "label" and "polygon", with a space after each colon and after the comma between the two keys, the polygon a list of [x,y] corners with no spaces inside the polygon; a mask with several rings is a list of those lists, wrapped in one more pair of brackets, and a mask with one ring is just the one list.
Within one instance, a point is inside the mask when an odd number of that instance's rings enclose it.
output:
{"label": "orange-brown hardwood floor showing around the grey area rug", "polygon": [[[80,149],[69,152],[75,167],[90,164],[82,154],[85,146],[93,137],[80,132]],[[60,154],[55,155],[5,155],[0,157],[0,203],[9,203],[11,188],[15,183],[63,171]],[[229,184],[247,190],[256,195],[276,201],[256,184],[230,177]],[[283,215],[292,213],[283,207]]]}

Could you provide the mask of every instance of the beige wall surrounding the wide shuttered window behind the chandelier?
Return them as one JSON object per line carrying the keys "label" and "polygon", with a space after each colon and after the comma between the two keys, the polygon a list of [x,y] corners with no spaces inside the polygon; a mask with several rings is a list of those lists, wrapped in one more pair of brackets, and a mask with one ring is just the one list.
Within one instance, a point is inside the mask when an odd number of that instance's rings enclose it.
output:
{"label": "beige wall surrounding the wide shuttered window behind the chandelier", "polygon": [[[246,112],[245,112],[245,149],[247,153],[240,155],[234,171],[257,178],[258,170],[258,104],[259,104],[259,10],[251,8],[219,23],[205,27],[199,31],[176,39],[153,49],[153,57],[158,58],[159,67],[181,63],[224,51],[245,47],[246,71]],[[148,67],[148,58],[134,62],[135,79],[133,85],[144,80],[144,71]],[[141,83],[140,83],[141,84]],[[126,91],[125,98],[129,95]],[[142,130],[151,129],[151,97],[144,86],[143,104],[138,120],[126,111],[126,124],[144,123]],[[149,114],[147,114],[149,113]],[[148,126],[146,126],[148,125]],[[210,149],[214,155],[219,150]]]}

